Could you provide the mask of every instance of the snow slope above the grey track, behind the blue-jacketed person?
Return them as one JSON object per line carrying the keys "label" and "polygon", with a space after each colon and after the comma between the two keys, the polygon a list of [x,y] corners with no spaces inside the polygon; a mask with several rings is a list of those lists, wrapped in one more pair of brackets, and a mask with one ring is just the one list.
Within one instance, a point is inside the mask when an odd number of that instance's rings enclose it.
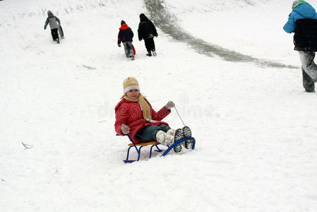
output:
{"label": "snow slope above the grey track, behind the blue-jacketed person", "polygon": [[[292,2],[166,0],[165,6],[193,36],[252,57],[298,66],[292,36],[281,30]],[[309,3],[317,6],[316,1]]]}

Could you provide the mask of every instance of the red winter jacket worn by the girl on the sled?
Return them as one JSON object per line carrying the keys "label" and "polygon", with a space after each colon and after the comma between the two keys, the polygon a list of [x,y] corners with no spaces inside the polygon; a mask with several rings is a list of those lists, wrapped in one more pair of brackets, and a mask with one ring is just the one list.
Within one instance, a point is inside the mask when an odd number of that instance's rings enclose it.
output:
{"label": "red winter jacket worn by the girl on the sled", "polygon": [[[150,105],[150,103],[149,103]],[[152,120],[155,121],[161,121],[164,119],[171,110],[167,110],[166,107],[162,107],[159,112],[155,112],[155,110],[152,109],[152,106],[150,105],[151,109],[151,116]],[[116,129],[116,133],[124,136],[124,134],[121,131],[122,124],[128,125],[130,127],[130,133],[129,135],[133,139],[134,143],[140,143],[140,139],[136,137],[136,133],[140,130],[145,128],[145,126],[150,125],[160,125],[160,124],[167,124],[166,122],[147,122],[143,118],[143,111],[141,110],[140,103],[139,102],[131,102],[126,99],[122,99],[118,105],[114,108],[116,112],[116,123],[114,124],[114,128]]]}

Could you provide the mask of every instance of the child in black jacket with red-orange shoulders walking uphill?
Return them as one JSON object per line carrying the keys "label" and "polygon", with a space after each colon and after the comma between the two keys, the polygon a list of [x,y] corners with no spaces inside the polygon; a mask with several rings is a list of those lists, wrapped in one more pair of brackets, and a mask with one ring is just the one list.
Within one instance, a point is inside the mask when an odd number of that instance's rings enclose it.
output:
{"label": "child in black jacket with red-orange shoulders walking uphill", "polygon": [[121,47],[121,42],[124,44],[124,52],[126,57],[130,57],[131,60],[134,59],[133,46],[132,46],[133,32],[131,28],[128,27],[124,20],[121,20],[121,27],[119,28],[118,34],[118,47]]}

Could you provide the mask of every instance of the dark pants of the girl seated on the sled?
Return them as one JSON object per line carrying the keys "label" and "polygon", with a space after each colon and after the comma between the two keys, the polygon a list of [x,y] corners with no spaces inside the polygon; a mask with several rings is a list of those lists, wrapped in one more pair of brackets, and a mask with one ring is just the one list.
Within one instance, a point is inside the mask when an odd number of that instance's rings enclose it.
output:
{"label": "dark pants of the girl seated on the sled", "polygon": [[143,129],[140,129],[136,133],[136,136],[143,142],[156,141],[156,134],[158,131],[162,130],[167,132],[169,129],[171,128],[165,124],[160,124],[159,126],[150,125],[150,126],[146,126]]}

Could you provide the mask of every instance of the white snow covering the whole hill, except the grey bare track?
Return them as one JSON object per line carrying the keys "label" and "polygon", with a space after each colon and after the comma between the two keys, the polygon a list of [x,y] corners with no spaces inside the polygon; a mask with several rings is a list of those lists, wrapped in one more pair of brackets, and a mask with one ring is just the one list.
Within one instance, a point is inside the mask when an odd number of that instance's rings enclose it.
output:
{"label": "white snow covering the whole hill, except the grey bare track", "polygon": [[[299,67],[282,31],[291,4],[165,1],[196,37]],[[300,69],[206,57],[160,29],[157,57],[135,36],[129,61],[116,36],[121,19],[137,35],[139,13],[141,0],[0,1],[1,211],[316,211],[317,96]],[[176,103],[194,151],[123,163],[114,106],[127,76],[156,110]],[[182,125],[174,110],[165,120]]]}

